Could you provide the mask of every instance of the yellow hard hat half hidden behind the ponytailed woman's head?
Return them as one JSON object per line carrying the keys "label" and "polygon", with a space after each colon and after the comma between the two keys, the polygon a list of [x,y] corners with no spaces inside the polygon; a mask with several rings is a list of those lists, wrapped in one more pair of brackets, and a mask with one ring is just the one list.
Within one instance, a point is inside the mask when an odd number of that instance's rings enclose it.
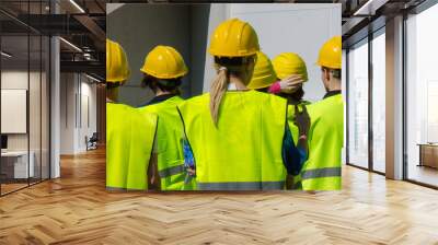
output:
{"label": "yellow hard hat half hidden behind the ponytailed woman's head", "polygon": [[253,78],[247,84],[247,89],[258,90],[270,86],[276,79],[277,77],[269,58],[262,51],[257,51],[257,61],[255,62]]}

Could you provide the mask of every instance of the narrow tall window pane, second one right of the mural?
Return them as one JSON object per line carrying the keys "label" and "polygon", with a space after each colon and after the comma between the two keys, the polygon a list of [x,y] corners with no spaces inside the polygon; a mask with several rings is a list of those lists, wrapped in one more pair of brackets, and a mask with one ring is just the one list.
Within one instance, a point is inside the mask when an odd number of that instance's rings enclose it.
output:
{"label": "narrow tall window pane, second one right of the mural", "polygon": [[384,32],[372,39],[372,166],[384,173],[385,154],[385,38]]}

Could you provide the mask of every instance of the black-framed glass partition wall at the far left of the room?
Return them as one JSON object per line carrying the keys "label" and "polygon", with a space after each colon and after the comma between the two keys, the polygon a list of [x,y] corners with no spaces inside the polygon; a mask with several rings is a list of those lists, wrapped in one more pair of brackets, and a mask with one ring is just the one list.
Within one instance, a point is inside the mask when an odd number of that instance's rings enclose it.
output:
{"label": "black-framed glass partition wall at the far left of the room", "polygon": [[[3,3],[0,3],[2,7]],[[39,5],[38,5],[39,4]],[[27,13],[43,1],[22,1]],[[0,195],[49,178],[49,37],[0,12]]]}

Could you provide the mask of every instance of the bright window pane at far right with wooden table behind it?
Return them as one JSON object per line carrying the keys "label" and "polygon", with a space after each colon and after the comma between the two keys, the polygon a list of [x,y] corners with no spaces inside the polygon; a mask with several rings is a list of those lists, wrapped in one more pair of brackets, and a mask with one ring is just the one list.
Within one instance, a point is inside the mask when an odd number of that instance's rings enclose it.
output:
{"label": "bright window pane at far right with wooden table behind it", "polygon": [[438,186],[438,5],[407,20],[407,178]]}

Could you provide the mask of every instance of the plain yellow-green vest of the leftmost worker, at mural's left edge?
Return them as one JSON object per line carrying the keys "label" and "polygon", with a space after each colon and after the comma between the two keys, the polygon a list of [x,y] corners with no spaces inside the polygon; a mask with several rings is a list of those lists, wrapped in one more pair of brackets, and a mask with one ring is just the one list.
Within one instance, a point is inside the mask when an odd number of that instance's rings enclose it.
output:
{"label": "plain yellow-green vest of the leftmost worker, at mural's left edge", "polygon": [[106,188],[148,188],[157,115],[106,103]]}

